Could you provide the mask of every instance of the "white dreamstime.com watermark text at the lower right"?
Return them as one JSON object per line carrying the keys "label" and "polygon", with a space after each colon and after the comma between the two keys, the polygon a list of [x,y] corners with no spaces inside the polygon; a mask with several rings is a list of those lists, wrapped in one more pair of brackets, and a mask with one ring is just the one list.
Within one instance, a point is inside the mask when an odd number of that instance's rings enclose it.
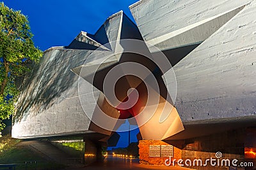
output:
{"label": "white dreamstime.com watermark text at the lower right", "polygon": [[191,166],[197,166],[197,167],[204,167],[204,166],[212,166],[212,167],[253,167],[253,162],[239,162],[237,159],[222,159],[223,155],[221,152],[217,152],[215,154],[214,158],[209,159],[172,159],[170,157],[169,159],[166,159],[164,164],[165,166],[181,166],[181,167],[191,167]]}

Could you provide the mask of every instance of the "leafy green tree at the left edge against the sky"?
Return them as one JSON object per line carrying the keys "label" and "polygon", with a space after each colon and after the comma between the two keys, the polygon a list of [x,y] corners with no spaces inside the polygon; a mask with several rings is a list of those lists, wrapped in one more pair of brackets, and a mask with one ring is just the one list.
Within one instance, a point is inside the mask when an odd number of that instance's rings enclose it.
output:
{"label": "leafy green tree at the left edge against the sky", "polygon": [[19,96],[17,80],[31,71],[42,52],[35,47],[28,18],[0,3],[0,131]]}

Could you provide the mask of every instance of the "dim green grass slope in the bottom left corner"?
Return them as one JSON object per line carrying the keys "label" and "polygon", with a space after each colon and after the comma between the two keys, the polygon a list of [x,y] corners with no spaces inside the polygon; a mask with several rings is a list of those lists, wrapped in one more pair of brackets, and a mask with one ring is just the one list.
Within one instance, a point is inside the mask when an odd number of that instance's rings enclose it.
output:
{"label": "dim green grass slope in the bottom left corner", "polygon": [[[37,153],[24,146],[19,146],[20,140],[12,139],[10,136],[0,138],[0,164],[25,164],[29,169],[63,169],[65,166],[44,159]],[[35,163],[36,162],[36,163]],[[26,169],[24,165],[17,166],[17,170]]]}

